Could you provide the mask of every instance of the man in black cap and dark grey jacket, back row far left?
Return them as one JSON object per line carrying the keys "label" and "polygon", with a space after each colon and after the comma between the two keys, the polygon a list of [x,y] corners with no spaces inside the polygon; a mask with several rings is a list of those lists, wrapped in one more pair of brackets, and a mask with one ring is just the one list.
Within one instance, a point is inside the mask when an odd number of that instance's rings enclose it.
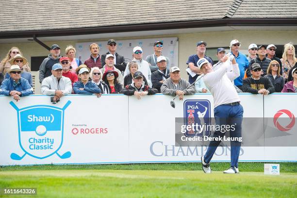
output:
{"label": "man in black cap and dark grey jacket, back row far left", "polygon": [[50,54],[47,58],[43,60],[39,67],[39,82],[41,83],[43,79],[51,75],[51,68],[54,64],[60,62],[61,50],[57,44],[53,44],[49,50]]}

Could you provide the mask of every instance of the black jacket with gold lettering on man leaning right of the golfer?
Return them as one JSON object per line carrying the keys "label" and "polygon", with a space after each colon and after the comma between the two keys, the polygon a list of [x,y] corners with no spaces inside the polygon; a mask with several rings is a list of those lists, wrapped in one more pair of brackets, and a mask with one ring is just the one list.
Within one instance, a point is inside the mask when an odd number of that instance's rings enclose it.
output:
{"label": "black jacket with gold lettering on man leaning right of the golfer", "polygon": [[247,93],[258,94],[260,89],[266,89],[269,94],[275,92],[273,84],[267,77],[261,77],[260,81],[248,77],[243,79],[242,83],[242,90]]}

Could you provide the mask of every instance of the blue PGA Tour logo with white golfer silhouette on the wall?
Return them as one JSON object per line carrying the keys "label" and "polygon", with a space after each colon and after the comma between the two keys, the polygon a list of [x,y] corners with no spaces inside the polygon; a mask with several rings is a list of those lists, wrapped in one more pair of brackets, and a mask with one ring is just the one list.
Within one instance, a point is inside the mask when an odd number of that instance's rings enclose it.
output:
{"label": "blue PGA Tour logo with white golfer silhouette on the wall", "polygon": [[207,99],[188,99],[183,102],[184,125],[198,125],[196,128],[186,130],[185,136],[210,135],[211,130],[205,128],[211,124],[210,109],[210,101]]}

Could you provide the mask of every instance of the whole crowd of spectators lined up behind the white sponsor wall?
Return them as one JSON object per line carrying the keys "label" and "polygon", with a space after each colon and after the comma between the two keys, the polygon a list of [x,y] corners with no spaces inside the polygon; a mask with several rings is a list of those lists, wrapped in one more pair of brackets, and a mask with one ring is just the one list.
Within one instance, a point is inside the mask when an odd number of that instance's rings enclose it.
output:
{"label": "whole crowd of spectators lined up behind the white sponsor wall", "polygon": [[[132,61],[125,62],[124,56],[116,52],[116,41],[110,39],[108,51],[99,55],[99,46],[89,46],[90,57],[82,63],[75,58],[76,49],[67,46],[65,56],[61,49],[53,44],[50,54],[43,60],[39,68],[41,93],[52,96],[56,103],[68,94],[125,94],[141,99],[146,95],[163,93],[178,96],[207,93],[205,82],[213,83],[215,79],[203,79],[206,69],[217,70],[229,57],[229,71],[232,65],[238,65],[237,78],[229,82],[237,92],[252,94],[271,94],[274,92],[297,93],[297,58],[292,43],[284,45],[281,59],[276,57],[277,47],[274,44],[248,46],[249,55],[241,53],[241,42],[232,40],[230,49],[218,48],[214,64],[211,57],[206,56],[207,43],[199,41],[196,54],[190,55],[186,64],[188,81],[181,79],[181,70],[177,66],[170,67],[170,60],[163,56],[163,42],[156,41],[153,53],[143,58],[143,50],[136,46],[132,50]],[[172,60],[171,60],[172,61]],[[203,63],[203,64],[202,64]],[[204,64],[205,63],[205,64]],[[202,76],[200,76],[202,75]],[[200,77],[199,77],[200,76]],[[0,95],[20,97],[33,94],[31,69],[27,59],[17,48],[11,48],[0,62]],[[185,90],[186,89],[186,90]]]}

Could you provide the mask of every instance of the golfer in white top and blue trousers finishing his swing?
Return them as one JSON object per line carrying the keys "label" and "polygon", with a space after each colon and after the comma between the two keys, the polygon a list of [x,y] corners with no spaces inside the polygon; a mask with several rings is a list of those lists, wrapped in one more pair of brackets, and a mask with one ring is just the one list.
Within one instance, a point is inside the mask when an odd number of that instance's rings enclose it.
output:
{"label": "golfer in white top and blue trousers finishing his swing", "polygon": [[[232,84],[232,81],[240,75],[238,64],[234,56],[224,56],[221,59],[224,64],[215,71],[212,65],[205,59],[199,59],[198,68],[204,74],[203,81],[214,97],[214,118],[216,125],[233,125],[234,130],[230,130],[230,137],[239,140],[241,137],[241,123],[243,117],[243,108],[240,104],[239,96]],[[228,66],[232,62],[232,70],[228,70]],[[230,68],[230,67],[229,67]],[[202,169],[205,173],[211,173],[210,161],[214,155],[217,146],[224,137],[224,133],[215,131],[213,139],[205,153],[201,157]],[[241,142],[231,141],[231,167],[224,173],[239,173],[238,157]]]}

